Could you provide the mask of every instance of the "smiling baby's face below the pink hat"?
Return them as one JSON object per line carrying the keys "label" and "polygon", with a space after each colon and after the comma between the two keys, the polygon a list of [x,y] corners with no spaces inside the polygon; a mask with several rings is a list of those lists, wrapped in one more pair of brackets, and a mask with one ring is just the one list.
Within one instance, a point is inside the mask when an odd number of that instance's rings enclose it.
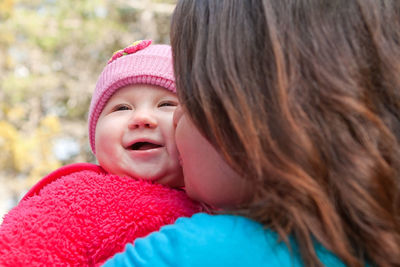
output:
{"label": "smiling baby's face below the pink hat", "polygon": [[183,186],[172,122],[177,106],[177,96],[158,86],[119,89],[96,125],[99,164],[120,176]]}

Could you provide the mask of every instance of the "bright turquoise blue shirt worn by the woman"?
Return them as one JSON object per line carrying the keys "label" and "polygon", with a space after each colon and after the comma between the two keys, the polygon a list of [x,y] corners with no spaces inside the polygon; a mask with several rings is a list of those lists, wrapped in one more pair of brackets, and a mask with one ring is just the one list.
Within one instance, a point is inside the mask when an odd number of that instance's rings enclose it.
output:
{"label": "bright turquoise blue shirt worn by the woman", "polygon": [[[304,266],[294,242],[291,253],[275,232],[241,216],[195,214],[134,244],[104,266]],[[345,266],[322,246],[316,252],[325,266]]]}

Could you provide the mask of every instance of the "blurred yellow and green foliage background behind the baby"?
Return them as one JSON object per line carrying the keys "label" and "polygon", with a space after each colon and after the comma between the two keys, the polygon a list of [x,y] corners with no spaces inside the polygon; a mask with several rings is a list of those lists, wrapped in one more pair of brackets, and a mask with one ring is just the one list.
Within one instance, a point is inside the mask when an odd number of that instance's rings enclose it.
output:
{"label": "blurred yellow and green foliage background behind the baby", "polygon": [[169,44],[176,0],[0,0],[0,222],[40,178],[95,163],[87,113],[114,51]]}

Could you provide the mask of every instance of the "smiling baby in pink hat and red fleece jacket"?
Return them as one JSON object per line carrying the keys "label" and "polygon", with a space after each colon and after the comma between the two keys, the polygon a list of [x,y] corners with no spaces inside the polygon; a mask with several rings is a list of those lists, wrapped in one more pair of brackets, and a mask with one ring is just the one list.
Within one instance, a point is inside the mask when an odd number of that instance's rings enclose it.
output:
{"label": "smiling baby in pink hat and red fleece jacket", "polygon": [[[138,41],[101,73],[89,110],[100,164],[37,183],[0,227],[0,265],[99,265],[135,238],[201,211],[182,191],[171,49]],[[177,189],[173,189],[177,188]]]}

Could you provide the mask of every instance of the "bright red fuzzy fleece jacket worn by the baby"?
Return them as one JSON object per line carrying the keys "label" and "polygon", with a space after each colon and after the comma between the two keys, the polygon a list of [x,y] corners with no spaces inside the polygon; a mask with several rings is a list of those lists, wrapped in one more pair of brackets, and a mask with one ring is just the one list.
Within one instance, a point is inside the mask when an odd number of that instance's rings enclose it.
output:
{"label": "bright red fuzzy fleece jacket worn by the baby", "polygon": [[0,227],[0,266],[95,266],[181,216],[201,211],[183,191],[82,163],[43,178]]}

